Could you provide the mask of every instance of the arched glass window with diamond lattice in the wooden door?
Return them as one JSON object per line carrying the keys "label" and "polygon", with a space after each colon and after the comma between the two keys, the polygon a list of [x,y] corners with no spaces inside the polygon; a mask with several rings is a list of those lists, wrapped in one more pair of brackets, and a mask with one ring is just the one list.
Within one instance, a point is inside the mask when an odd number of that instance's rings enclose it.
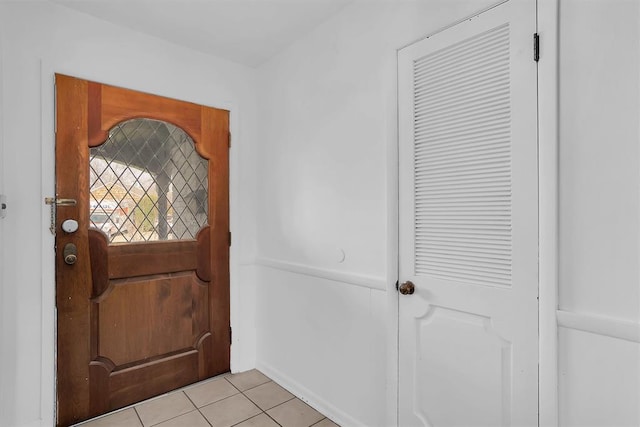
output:
{"label": "arched glass window with diamond lattice in the wooden door", "polygon": [[112,243],[190,240],[207,225],[208,161],[170,123],[117,124],[89,169],[91,226]]}

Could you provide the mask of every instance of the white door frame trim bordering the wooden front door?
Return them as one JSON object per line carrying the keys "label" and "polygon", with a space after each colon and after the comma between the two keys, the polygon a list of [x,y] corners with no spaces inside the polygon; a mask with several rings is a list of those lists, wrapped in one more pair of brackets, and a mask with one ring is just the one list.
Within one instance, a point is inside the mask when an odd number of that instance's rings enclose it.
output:
{"label": "white door frame trim bordering the wooden front door", "polygon": [[[47,60],[40,59],[40,118],[41,118],[41,194],[40,200],[44,201],[45,197],[55,194],[55,74],[65,74],[75,76],[77,78],[90,81],[100,81],[104,84],[128,88],[127,82],[114,82],[109,76],[87,76],[86,72],[78,69],[67,69],[65,67],[56,66]],[[136,89],[133,89],[136,90]],[[144,90],[142,90],[144,92]],[[171,98],[172,95],[166,93],[159,94]],[[175,98],[175,96],[173,96]],[[203,104],[202,100],[186,99],[180,97],[180,100]],[[229,131],[235,135],[235,146],[229,148],[229,228],[234,234],[234,243],[229,248],[229,291],[230,291],[230,322],[231,327],[235,329],[233,334],[233,342],[231,345],[231,370],[236,372],[248,368],[251,360],[247,360],[243,356],[243,348],[246,351],[254,349],[251,344],[242,345],[244,337],[244,323],[240,320],[239,306],[242,300],[240,287],[238,286],[239,269],[242,265],[240,254],[241,251],[241,230],[238,227],[240,222],[239,214],[239,183],[240,183],[240,167],[239,167],[239,150],[238,145],[241,143],[238,135],[238,116],[240,115],[237,104],[228,100],[214,100],[207,102],[207,105],[216,104],[215,108],[229,111]],[[204,105],[204,104],[203,104]],[[39,426],[51,426],[56,421],[56,276],[55,276],[55,236],[48,232],[50,225],[49,206],[42,202],[41,205],[41,259],[42,259],[42,277],[41,277],[41,372],[40,372],[40,420]],[[251,358],[255,358],[252,354]]]}

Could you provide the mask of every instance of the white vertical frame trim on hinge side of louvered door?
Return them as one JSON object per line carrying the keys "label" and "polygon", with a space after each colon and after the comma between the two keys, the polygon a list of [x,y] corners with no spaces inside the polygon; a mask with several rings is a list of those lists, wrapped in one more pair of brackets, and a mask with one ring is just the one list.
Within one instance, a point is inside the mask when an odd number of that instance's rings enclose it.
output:
{"label": "white vertical frame trim on hinge side of louvered door", "polygon": [[558,426],[559,0],[537,1],[538,62],[538,424]]}

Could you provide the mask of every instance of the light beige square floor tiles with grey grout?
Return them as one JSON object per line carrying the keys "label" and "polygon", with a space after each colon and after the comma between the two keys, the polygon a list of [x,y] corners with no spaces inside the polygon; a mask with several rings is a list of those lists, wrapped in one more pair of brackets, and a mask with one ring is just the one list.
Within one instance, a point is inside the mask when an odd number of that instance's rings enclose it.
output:
{"label": "light beige square floor tiles with grey grout", "polygon": [[225,374],[82,427],[338,427],[257,370]]}

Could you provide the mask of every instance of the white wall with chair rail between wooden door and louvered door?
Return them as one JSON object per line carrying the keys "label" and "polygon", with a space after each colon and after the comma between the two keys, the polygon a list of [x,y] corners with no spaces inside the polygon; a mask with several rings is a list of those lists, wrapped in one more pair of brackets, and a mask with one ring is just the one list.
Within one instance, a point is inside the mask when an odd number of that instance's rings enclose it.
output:
{"label": "white wall with chair rail between wooden door and louvered door", "polygon": [[396,50],[491,3],[356,3],[259,69],[258,367],[343,425],[396,422]]}

